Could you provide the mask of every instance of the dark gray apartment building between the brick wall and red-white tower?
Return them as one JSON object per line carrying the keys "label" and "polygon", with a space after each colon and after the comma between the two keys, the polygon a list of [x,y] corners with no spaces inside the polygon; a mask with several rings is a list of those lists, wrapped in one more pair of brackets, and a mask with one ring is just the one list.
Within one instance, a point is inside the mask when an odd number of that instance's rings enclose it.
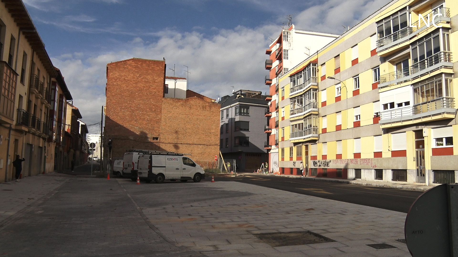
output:
{"label": "dark gray apartment building between the brick wall and red-white tower", "polygon": [[223,96],[219,148],[224,160],[235,160],[238,171],[255,171],[267,161],[264,133],[268,108],[260,91],[240,90]]}

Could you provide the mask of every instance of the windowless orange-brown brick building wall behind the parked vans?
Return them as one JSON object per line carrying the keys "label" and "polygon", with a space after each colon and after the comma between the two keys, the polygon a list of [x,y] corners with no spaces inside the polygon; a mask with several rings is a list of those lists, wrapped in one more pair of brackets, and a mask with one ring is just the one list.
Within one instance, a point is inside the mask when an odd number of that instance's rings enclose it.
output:
{"label": "windowless orange-brown brick building wall behind the parked vans", "polygon": [[210,166],[219,152],[220,105],[190,90],[184,99],[166,98],[165,70],[164,60],[107,64],[104,145],[112,139],[112,159],[135,148],[183,153]]}

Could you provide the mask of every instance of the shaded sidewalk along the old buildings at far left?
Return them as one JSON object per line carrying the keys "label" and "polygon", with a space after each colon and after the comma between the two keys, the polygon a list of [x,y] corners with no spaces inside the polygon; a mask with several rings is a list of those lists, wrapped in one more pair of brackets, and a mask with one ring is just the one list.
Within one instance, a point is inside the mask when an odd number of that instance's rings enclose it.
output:
{"label": "shaded sidewalk along the old buildings at far left", "polygon": [[0,229],[11,218],[22,214],[27,207],[43,201],[50,192],[60,187],[69,178],[57,173],[24,177],[20,182],[0,183]]}

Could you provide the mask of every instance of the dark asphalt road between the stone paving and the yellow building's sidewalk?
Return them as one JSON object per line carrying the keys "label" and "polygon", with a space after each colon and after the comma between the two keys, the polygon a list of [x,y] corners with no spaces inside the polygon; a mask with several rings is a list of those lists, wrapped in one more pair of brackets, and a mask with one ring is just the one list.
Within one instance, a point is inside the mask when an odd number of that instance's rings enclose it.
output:
{"label": "dark asphalt road between the stone paving and the yellow building's sidewalk", "polygon": [[415,199],[423,193],[396,188],[367,187],[251,173],[245,173],[241,177],[218,177],[218,181],[237,181],[403,213],[407,213]]}

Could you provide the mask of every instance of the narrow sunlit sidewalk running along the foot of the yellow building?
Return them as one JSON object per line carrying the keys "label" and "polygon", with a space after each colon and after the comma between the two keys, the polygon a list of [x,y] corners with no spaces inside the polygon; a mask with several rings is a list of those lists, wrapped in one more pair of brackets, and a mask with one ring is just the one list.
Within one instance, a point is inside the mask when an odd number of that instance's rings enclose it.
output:
{"label": "narrow sunlit sidewalk running along the foot of the yellow building", "polygon": [[379,181],[351,180],[351,179],[327,178],[327,177],[301,177],[301,176],[294,176],[294,175],[276,175],[272,173],[270,174],[245,173],[245,174],[260,175],[260,176],[291,177],[291,178],[299,178],[299,179],[306,179],[306,180],[318,180],[318,181],[344,183],[344,184],[352,184],[352,185],[360,185],[360,186],[371,186],[371,187],[390,187],[390,188],[416,190],[416,191],[426,191],[434,187],[434,186],[414,185],[414,184],[408,184],[404,182],[382,182],[382,181],[379,182]]}

